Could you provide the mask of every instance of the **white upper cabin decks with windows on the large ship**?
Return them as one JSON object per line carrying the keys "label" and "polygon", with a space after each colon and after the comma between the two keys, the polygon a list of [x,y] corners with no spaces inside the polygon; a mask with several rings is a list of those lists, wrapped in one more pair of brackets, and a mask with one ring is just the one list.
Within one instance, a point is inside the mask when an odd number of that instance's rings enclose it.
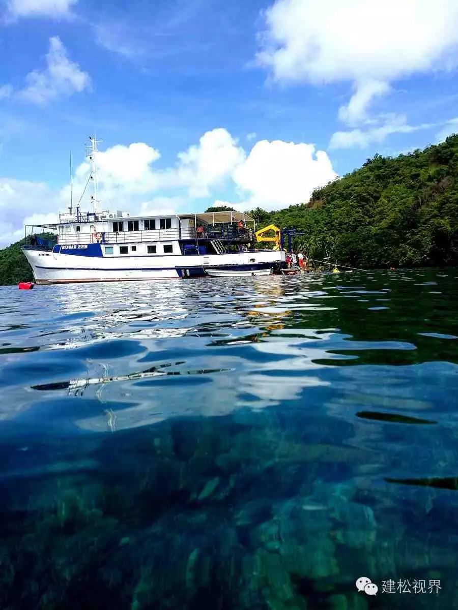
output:
{"label": "white upper cabin decks with windows on the large ship", "polygon": [[26,247],[70,253],[99,244],[101,256],[164,256],[246,250],[253,242],[255,221],[232,211],[131,216],[121,210],[82,213],[70,208],[69,213],[59,214],[59,223],[39,228],[56,238],[40,238],[34,233],[37,226],[27,226]]}

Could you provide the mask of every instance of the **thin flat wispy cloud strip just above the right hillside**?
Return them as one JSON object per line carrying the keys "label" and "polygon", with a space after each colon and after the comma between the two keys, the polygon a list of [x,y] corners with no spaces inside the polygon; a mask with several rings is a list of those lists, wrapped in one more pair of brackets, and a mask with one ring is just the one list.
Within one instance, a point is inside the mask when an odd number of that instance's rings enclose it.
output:
{"label": "thin flat wispy cloud strip just above the right hillside", "polygon": [[379,124],[369,129],[352,129],[351,131],[336,131],[332,134],[329,142],[330,149],[336,148],[367,148],[373,143],[380,143],[391,134],[409,134],[420,129],[430,129],[434,127],[432,123],[421,125],[407,124],[405,117],[401,115],[391,115],[385,118],[383,124]]}

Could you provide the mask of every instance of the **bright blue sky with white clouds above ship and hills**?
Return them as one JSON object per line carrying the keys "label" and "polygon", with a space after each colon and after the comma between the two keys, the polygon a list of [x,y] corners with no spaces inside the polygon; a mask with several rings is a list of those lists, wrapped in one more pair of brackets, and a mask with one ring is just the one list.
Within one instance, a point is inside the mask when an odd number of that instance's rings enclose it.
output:
{"label": "bright blue sky with white clouds above ship and hills", "polygon": [[0,30],[0,243],[65,206],[70,149],[84,185],[94,131],[133,212],[284,207],[458,131],[456,1],[8,0]]}

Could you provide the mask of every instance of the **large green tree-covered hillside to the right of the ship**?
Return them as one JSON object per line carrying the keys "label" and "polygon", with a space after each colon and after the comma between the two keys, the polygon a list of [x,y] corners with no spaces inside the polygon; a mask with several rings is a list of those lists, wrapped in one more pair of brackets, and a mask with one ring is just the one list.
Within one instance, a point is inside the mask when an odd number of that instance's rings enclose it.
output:
{"label": "large green tree-covered hillside to the right of the ship", "polygon": [[398,157],[376,155],[310,202],[252,210],[261,226],[303,229],[308,256],[355,267],[458,263],[458,135]]}

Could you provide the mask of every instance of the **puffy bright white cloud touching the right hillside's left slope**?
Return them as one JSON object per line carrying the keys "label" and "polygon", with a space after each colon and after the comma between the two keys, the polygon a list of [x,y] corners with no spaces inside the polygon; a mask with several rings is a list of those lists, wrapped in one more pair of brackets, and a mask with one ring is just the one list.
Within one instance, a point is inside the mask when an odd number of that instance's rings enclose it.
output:
{"label": "puffy bright white cloud touching the right hillside's left slope", "polygon": [[261,140],[233,173],[247,207],[275,209],[308,201],[314,188],[336,178],[324,151],[313,144]]}

